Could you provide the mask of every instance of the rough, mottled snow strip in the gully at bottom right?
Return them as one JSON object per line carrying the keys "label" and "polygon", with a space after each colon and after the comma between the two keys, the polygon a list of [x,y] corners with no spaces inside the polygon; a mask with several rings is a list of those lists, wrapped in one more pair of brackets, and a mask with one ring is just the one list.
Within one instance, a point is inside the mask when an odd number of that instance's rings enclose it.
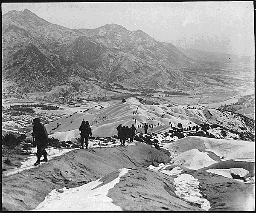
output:
{"label": "rough, mottled snow strip in the gully at bottom right", "polygon": [[208,211],[210,207],[210,202],[205,199],[198,189],[199,182],[198,179],[194,178],[189,174],[178,175],[175,181],[175,194],[185,199],[186,201],[197,203],[201,205],[201,209]]}

